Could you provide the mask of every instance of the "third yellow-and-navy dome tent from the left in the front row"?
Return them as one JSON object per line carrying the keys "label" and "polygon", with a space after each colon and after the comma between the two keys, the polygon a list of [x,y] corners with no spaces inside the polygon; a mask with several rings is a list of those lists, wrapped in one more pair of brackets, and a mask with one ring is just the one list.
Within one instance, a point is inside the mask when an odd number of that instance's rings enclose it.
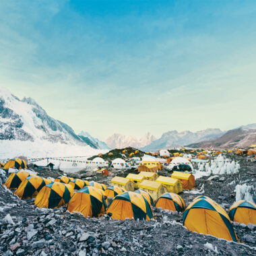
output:
{"label": "third yellow-and-navy dome tent from the left in the front row", "polygon": [[44,179],[38,176],[30,176],[24,179],[22,183],[20,183],[20,186],[14,192],[14,194],[18,195],[20,198],[36,197],[42,187],[49,183],[51,183],[50,179]]}

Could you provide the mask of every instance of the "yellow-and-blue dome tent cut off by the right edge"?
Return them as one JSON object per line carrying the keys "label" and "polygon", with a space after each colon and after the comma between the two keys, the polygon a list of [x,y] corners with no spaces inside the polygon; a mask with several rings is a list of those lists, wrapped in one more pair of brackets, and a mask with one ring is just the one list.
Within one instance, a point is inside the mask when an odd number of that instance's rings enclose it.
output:
{"label": "yellow-and-blue dome tent cut off by the right edge", "polygon": [[253,202],[245,200],[234,202],[230,206],[228,215],[233,222],[256,225],[256,205]]}

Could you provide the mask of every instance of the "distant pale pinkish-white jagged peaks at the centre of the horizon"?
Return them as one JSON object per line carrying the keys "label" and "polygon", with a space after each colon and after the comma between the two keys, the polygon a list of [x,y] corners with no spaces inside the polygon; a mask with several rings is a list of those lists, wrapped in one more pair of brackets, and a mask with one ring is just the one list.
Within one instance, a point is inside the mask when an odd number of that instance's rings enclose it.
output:
{"label": "distant pale pinkish-white jagged peaks at the centre of the horizon", "polygon": [[146,133],[140,139],[137,139],[131,135],[122,135],[120,133],[114,133],[110,137],[106,139],[106,145],[109,148],[143,148],[144,146],[152,143],[152,141],[156,140],[156,137],[151,133]]}

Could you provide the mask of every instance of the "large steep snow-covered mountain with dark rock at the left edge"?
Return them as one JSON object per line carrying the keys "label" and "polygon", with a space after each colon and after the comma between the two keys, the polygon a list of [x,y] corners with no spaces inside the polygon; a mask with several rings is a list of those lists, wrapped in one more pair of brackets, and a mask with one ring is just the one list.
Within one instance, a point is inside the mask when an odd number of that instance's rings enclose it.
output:
{"label": "large steep snow-covered mountain with dark rock at the left edge", "polygon": [[100,146],[94,139],[76,135],[69,125],[49,117],[32,98],[20,100],[0,88],[0,139],[20,141],[51,141],[70,145]]}

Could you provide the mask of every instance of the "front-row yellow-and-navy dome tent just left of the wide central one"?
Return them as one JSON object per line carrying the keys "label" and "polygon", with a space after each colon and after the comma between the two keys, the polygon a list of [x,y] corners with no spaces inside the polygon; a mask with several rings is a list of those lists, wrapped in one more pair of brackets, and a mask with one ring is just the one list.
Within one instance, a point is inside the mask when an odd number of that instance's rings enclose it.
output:
{"label": "front-row yellow-and-navy dome tent just left of the wide central one", "polygon": [[95,187],[84,187],[73,195],[67,205],[67,211],[80,212],[84,217],[98,217],[106,212],[106,201],[102,191]]}

